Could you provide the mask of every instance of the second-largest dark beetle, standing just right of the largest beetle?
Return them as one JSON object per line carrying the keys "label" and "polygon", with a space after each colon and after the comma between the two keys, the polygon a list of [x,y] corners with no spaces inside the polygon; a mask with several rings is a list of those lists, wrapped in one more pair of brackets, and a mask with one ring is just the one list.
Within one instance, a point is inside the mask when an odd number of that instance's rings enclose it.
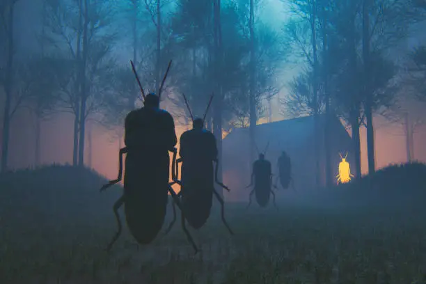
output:
{"label": "second-largest dark beetle, standing just right of the largest beetle", "polygon": [[[216,150],[216,140],[211,132],[208,132],[207,130],[203,129],[203,124],[205,121],[205,117],[207,116],[207,112],[210,108],[210,104],[212,103],[214,95],[210,97],[210,101],[207,105],[207,109],[205,110],[205,114],[203,117],[203,120],[200,118],[194,120],[194,117],[192,116],[191,108],[189,107],[187,97],[184,96],[185,104],[187,104],[187,108],[189,111],[189,114],[191,116],[191,120],[194,124],[194,129],[189,130],[182,134],[181,136],[181,150],[182,150],[182,144],[187,143],[187,145],[184,145],[187,147],[187,151],[196,151],[197,146],[203,147],[203,151],[208,154],[210,151],[215,151],[214,154],[217,155]],[[198,129],[195,128],[195,124],[197,125]],[[201,145],[203,144],[203,145]],[[214,148],[212,150],[211,148]],[[188,154],[188,153],[187,153]],[[194,157],[186,157],[184,155],[180,159],[176,161],[176,168],[175,172],[177,173],[175,175],[175,182],[180,184],[180,193],[178,196],[180,196],[181,200],[181,208],[182,208],[182,226],[184,226],[184,216],[186,217],[189,225],[194,229],[201,228],[207,219],[210,216],[210,210],[212,207],[212,198],[213,195],[216,196],[216,198],[219,200],[219,203],[221,203],[221,218],[223,223],[225,224],[226,228],[228,228],[230,234],[232,235],[233,232],[228,226],[228,223],[226,222],[225,216],[224,216],[224,203],[221,196],[216,192],[214,189],[214,181],[219,184],[223,189],[226,189],[229,191],[228,187],[226,187],[224,184],[219,182],[217,178],[217,171],[219,167],[219,161],[216,158],[216,155],[214,157],[207,157],[205,156],[204,159],[200,159],[200,156],[203,156],[203,153],[197,152],[197,157],[194,159]],[[181,152],[182,155],[182,152]],[[189,160],[191,159],[191,161]],[[210,175],[213,176],[212,171],[212,162],[215,162],[216,167],[214,170],[214,181],[210,180]],[[182,162],[182,180],[178,179],[178,164]],[[173,203],[173,212],[175,212],[174,209],[174,203]],[[166,230],[165,234],[167,234],[171,228],[173,227],[173,224],[175,223],[176,216],[173,215],[173,221],[171,222],[170,226],[168,226],[168,229]]]}

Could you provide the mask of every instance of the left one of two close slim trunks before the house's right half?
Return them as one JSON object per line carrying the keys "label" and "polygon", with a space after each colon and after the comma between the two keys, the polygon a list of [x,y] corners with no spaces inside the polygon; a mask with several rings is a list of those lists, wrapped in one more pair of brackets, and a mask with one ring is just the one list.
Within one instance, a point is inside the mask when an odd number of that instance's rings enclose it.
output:
{"label": "left one of two close slim trunks before the house's right half", "polygon": [[320,168],[319,168],[319,123],[318,123],[318,56],[317,56],[317,31],[315,22],[317,19],[317,3],[312,2],[312,14],[310,18],[310,29],[312,33],[312,48],[313,48],[313,105],[314,105],[314,152],[315,152],[315,185],[319,187],[321,184]]}

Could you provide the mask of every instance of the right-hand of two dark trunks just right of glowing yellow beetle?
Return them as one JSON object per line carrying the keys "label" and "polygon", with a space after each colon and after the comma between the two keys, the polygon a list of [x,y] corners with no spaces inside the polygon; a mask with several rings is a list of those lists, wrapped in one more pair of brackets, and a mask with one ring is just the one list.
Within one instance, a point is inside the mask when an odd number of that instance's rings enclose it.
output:
{"label": "right-hand of two dark trunks just right of glowing yellow beetle", "polygon": [[368,174],[372,174],[376,168],[374,164],[374,128],[372,124],[372,92],[370,86],[370,18],[368,15],[368,2],[369,0],[363,1],[363,61],[365,119],[367,120]]}

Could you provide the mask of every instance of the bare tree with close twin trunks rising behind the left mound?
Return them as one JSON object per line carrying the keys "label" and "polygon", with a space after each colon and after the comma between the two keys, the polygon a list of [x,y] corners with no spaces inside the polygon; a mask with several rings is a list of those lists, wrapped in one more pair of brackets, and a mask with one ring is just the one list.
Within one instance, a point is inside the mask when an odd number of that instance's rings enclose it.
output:
{"label": "bare tree with close twin trunks rising behind the left mound", "polygon": [[111,13],[109,1],[47,1],[46,38],[63,50],[64,58],[72,65],[68,69],[72,81],[65,83],[63,105],[74,114],[74,165],[84,165],[86,118],[99,109],[102,101],[95,97],[102,86],[95,83],[111,67],[109,54],[116,38]]}

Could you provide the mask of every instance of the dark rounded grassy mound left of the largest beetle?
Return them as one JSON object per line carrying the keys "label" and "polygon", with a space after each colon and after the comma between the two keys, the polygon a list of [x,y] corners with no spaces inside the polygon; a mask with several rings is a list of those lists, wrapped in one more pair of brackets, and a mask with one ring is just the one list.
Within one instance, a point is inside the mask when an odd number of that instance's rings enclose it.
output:
{"label": "dark rounded grassy mound left of the largest beetle", "polygon": [[100,194],[99,189],[106,182],[95,171],[72,166],[5,173],[0,175],[1,216],[11,225],[26,221],[46,225],[93,222],[106,212],[111,214],[114,201],[123,192],[115,186]]}

